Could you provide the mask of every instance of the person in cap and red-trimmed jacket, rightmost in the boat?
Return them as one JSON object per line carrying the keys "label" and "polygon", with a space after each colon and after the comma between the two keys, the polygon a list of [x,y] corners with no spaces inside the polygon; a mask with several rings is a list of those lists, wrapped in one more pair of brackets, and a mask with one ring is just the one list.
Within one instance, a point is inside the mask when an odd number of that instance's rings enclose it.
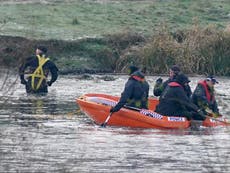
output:
{"label": "person in cap and red-trimmed jacket, rightmost in the boat", "polygon": [[218,105],[215,99],[214,85],[219,83],[213,76],[199,81],[192,95],[193,103],[196,104],[204,114],[211,114],[214,117],[220,116]]}

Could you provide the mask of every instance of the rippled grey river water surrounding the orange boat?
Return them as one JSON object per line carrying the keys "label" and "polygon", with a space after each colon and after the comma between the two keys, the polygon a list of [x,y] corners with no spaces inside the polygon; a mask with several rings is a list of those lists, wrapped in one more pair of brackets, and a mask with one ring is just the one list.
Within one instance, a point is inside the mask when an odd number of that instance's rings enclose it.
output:
{"label": "rippled grey river water surrounding the orange boat", "polygon": [[[95,125],[75,100],[85,93],[120,95],[127,76],[104,81],[60,76],[47,96],[27,96],[16,76],[0,83],[1,172],[230,172],[228,127],[158,130]],[[156,76],[147,76],[150,95]],[[191,77],[194,89],[199,77]],[[14,84],[16,80],[16,83]],[[216,85],[230,118],[230,80]]]}

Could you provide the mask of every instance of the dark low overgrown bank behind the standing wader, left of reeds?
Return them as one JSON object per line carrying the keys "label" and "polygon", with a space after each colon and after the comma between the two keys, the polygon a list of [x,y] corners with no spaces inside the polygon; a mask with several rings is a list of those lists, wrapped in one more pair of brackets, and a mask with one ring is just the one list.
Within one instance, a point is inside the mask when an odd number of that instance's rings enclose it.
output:
{"label": "dark low overgrown bank behind the standing wader, left of reeds", "polygon": [[113,73],[124,50],[144,44],[136,33],[117,33],[103,38],[66,40],[31,40],[23,37],[0,36],[0,63],[17,70],[19,64],[35,53],[37,45],[48,48],[48,56],[60,73]]}

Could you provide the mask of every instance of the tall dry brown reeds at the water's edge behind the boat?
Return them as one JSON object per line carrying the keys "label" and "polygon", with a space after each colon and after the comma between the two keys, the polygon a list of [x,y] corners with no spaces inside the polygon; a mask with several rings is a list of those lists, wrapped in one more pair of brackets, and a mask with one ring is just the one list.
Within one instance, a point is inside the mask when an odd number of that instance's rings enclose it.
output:
{"label": "tall dry brown reeds at the water's edge behind the boat", "polygon": [[230,32],[216,26],[194,24],[174,33],[162,27],[144,46],[127,52],[118,60],[117,69],[122,70],[122,63],[136,62],[147,73],[158,74],[178,64],[185,73],[230,75]]}

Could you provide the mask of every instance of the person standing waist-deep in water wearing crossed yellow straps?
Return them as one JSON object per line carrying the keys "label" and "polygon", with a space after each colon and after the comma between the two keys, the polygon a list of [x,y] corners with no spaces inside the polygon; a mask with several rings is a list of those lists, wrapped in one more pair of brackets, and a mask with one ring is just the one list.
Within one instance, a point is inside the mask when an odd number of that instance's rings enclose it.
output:
{"label": "person standing waist-deep in water wearing crossed yellow straps", "polygon": [[[21,84],[25,85],[27,93],[47,93],[48,86],[57,80],[58,68],[46,57],[46,53],[46,47],[38,46],[36,55],[28,57],[19,69]],[[51,79],[47,81],[49,72]],[[25,73],[28,73],[26,79]]]}

